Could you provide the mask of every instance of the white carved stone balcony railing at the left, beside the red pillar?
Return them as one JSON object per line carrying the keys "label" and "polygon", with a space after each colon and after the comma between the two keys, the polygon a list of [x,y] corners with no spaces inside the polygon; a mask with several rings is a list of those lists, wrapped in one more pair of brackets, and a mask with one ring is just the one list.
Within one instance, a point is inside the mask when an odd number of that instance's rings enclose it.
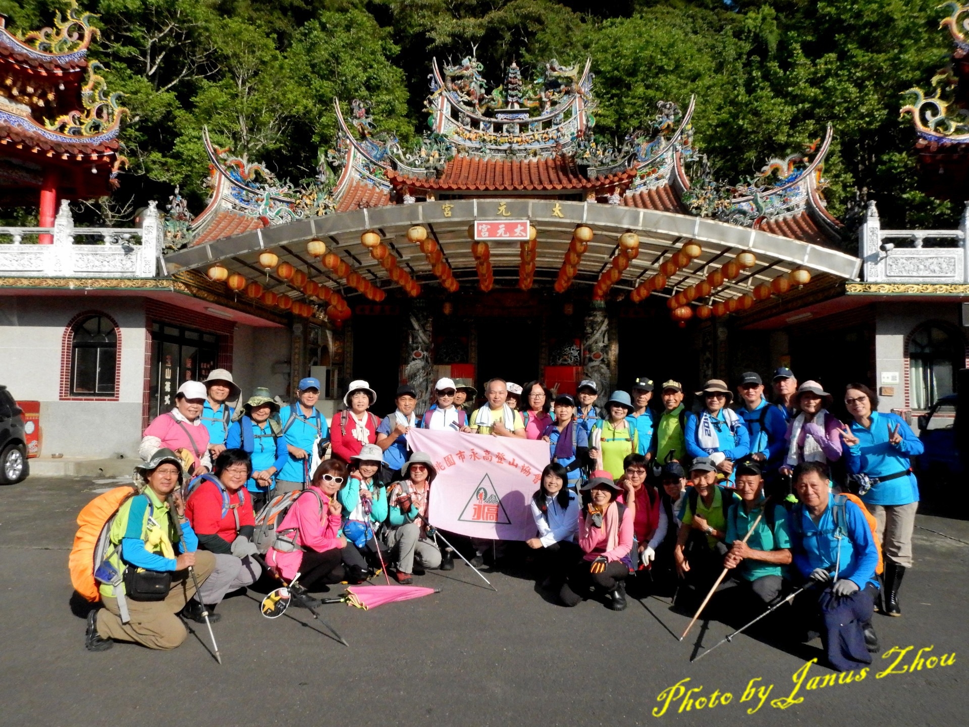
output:
{"label": "white carved stone balcony railing at the left, beside the red pillar", "polygon": [[[141,228],[76,228],[67,200],[53,227],[0,227],[0,276],[154,277],[164,229],[154,202]],[[53,244],[24,238],[52,237]]]}

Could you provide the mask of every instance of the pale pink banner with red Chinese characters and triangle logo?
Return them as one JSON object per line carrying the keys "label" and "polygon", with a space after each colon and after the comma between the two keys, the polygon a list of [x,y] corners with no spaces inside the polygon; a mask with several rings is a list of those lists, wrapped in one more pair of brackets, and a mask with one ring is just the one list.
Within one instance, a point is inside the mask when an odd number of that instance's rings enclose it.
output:
{"label": "pale pink banner with red Chinese characters and triangle logo", "polygon": [[432,525],[476,538],[535,537],[530,503],[548,463],[547,442],[411,429],[407,443],[437,468],[427,505]]}

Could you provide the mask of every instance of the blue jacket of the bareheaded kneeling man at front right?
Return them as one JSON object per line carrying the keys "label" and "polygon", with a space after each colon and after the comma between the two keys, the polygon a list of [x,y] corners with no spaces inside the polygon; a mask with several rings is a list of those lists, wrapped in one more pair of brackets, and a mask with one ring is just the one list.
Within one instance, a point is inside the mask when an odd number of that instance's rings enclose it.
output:
{"label": "blue jacket of the bareheaded kneeling man at front right", "polygon": [[871,528],[861,514],[860,508],[851,500],[844,503],[844,529],[847,536],[834,537],[834,495],[828,493],[828,507],[815,524],[803,505],[797,505],[788,513],[788,534],[791,536],[791,553],[800,575],[807,578],[815,568],[825,568],[832,574],[837,564],[838,548],[841,549],[839,579],[854,581],[859,588],[865,584],[878,587],[875,568],[878,566],[878,550]]}

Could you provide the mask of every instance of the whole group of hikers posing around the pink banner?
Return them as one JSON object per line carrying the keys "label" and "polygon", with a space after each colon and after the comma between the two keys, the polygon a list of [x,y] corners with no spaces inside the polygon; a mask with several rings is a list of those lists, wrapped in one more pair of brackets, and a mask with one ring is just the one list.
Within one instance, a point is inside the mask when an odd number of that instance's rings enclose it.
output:
{"label": "whole group of hikers posing around the pink banner", "polygon": [[[315,378],[289,405],[260,389],[233,406],[241,392],[216,369],[183,383],[144,431],[139,494],[109,527],[105,563],[117,575],[99,578],[104,608],[88,616],[85,646],[174,648],[187,635],[178,616],[216,620],[228,593],[261,576],[291,583],[298,573],[294,603],[312,607],[312,593],[385,568],[398,584],[451,570],[456,549],[475,569],[528,563],[567,607],[596,598],[622,611],[629,592],[672,596],[687,613],[709,599],[708,611],[749,620],[790,601],[765,624],[783,622],[801,641],[820,635],[834,669],[870,663],[876,605],[901,614],[919,500],[911,458],[922,444],[903,419],[877,411],[864,384],[844,392],[847,423],[830,413],[831,394],[798,385],[789,368],[770,387],[768,400],[761,376],[745,372],[735,400],[711,379],[687,408],[673,380],[640,377],[601,397],[591,380],[556,395],[539,381],[496,378],[476,407],[471,382],[442,378],[427,411],[416,412],[419,393],[403,385],[380,418],[370,411],[376,392],[358,380],[328,422]],[[412,428],[547,442],[534,537],[522,545],[436,530],[427,507],[437,469],[410,451]],[[290,506],[278,510],[283,500]],[[266,539],[260,528],[276,512]]]}

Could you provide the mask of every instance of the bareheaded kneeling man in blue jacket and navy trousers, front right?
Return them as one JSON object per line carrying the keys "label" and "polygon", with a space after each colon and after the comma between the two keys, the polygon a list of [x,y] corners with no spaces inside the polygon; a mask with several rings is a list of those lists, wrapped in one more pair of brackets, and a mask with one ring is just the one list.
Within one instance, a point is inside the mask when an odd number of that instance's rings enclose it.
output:
{"label": "bareheaded kneeling man in blue jacket and navy trousers, front right", "polygon": [[788,523],[794,563],[805,580],[824,586],[820,597],[804,591],[798,605],[804,617],[820,615],[828,663],[847,672],[870,664],[869,651],[878,649],[871,626],[878,595],[875,539],[858,505],[831,493],[824,462],[798,464],[794,481],[799,503]]}

